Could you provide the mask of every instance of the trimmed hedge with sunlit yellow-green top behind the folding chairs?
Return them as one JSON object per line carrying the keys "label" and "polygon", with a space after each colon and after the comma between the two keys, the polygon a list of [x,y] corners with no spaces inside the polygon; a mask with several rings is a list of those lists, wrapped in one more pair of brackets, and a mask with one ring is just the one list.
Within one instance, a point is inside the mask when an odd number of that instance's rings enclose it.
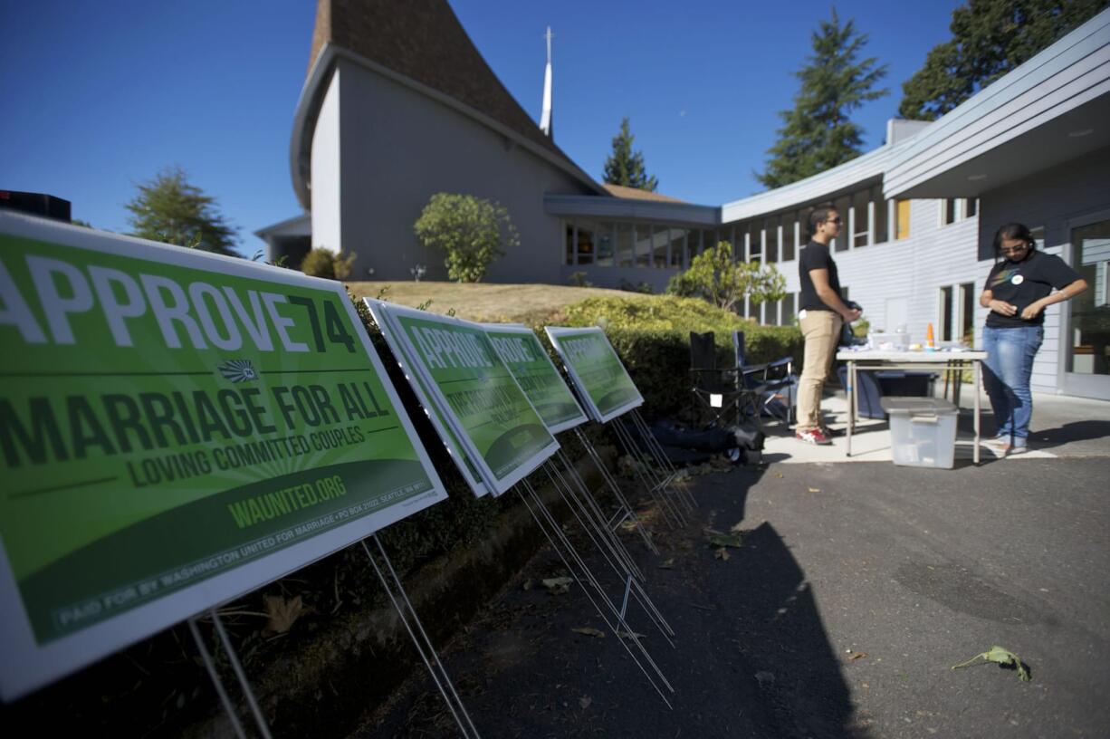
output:
{"label": "trimmed hedge with sunlit yellow-green top behind the folding chairs", "polygon": [[761,326],[690,297],[589,297],[552,317],[568,326],[598,325],[644,396],[645,412],[677,417],[690,407],[690,332],[716,334],[719,366],[733,364],[731,332],[744,332],[751,364],[794,356],[801,362],[796,326]]}

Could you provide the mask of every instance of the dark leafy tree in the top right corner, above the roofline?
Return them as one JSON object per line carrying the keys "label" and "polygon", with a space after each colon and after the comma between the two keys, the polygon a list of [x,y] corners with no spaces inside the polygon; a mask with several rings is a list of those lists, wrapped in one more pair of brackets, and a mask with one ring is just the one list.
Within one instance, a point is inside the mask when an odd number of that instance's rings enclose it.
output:
{"label": "dark leafy tree in the top right corner, above the roofline", "polygon": [[932,121],[1057,41],[1110,0],[970,0],[952,11],[952,39],[902,83],[902,118]]}

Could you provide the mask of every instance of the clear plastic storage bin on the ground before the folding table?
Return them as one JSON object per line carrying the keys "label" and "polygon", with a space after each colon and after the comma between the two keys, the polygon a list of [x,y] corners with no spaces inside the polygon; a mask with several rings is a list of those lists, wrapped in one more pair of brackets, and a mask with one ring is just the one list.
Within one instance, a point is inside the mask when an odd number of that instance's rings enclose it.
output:
{"label": "clear plastic storage bin on the ground before the folding table", "polygon": [[890,451],[904,467],[951,469],[956,457],[956,406],[936,397],[885,397]]}

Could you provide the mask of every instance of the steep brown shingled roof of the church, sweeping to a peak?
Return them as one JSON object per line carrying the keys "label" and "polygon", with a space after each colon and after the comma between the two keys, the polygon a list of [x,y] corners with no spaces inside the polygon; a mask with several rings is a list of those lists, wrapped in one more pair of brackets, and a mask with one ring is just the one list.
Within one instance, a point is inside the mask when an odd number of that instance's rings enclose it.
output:
{"label": "steep brown shingled roof of the church, sweeping to a peak", "polygon": [[327,43],[453,98],[581,172],[501,83],[446,0],[317,0],[310,72]]}

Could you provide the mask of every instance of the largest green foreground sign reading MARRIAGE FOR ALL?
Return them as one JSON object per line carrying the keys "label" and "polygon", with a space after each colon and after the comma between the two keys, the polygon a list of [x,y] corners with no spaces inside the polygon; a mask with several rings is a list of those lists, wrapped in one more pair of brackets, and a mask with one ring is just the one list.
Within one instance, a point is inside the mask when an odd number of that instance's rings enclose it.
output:
{"label": "largest green foreground sign reading MARRIAGE FOR ALL", "polygon": [[0,212],[0,695],[446,497],[342,285]]}

